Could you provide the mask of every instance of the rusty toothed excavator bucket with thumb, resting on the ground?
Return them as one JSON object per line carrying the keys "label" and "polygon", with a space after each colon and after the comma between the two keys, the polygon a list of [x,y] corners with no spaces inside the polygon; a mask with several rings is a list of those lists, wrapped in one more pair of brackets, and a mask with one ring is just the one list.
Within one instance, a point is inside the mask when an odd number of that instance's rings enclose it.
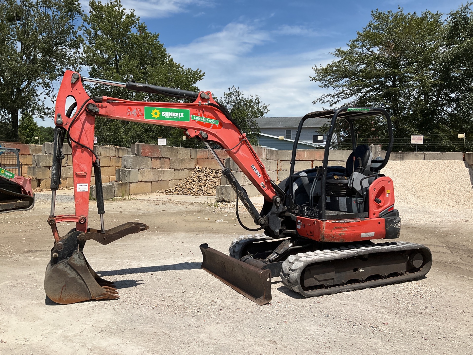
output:
{"label": "rusty toothed excavator bucket with thumb, resting on the ground", "polygon": [[143,223],[128,222],[105,233],[95,229],[87,232],[70,231],[51,249],[51,260],[44,275],[46,295],[53,302],[61,304],[119,298],[114,284],[101,278],[90,267],[82,252],[85,242],[93,239],[105,245],[148,228]]}

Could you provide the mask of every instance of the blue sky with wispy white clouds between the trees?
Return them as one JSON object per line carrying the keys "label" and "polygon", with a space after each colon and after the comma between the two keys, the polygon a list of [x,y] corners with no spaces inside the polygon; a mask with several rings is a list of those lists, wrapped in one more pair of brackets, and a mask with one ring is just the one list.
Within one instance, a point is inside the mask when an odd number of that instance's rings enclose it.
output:
{"label": "blue sky with wispy white clouds between the trees", "polygon": [[[84,1],[84,4],[87,2]],[[229,86],[270,104],[267,116],[302,116],[321,109],[312,67],[331,62],[369,22],[374,9],[447,13],[462,2],[122,0],[135,9],[176,62],[205,71],[198,85],[221,96]],[[87,11],[87,5],[84,6]],[[42,124],[46,124],[43,122]]]}

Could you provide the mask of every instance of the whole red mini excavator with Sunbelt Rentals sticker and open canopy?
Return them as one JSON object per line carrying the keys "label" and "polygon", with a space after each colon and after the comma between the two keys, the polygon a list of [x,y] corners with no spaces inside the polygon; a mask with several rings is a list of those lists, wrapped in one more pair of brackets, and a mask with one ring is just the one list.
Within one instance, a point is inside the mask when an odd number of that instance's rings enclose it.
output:
{"label": "whole red mini excavator with Sunbelt Rentals sticker and open canopy", "polygon": [[[193,102],[136,102],[121,98],[89,97],[83,82],[156,93]],[[66,99],[74,103],[66,107]],[[75,110],[75,111],[74,111]],[[234,240],[230,255],[207,244],[200,246],[202,268],[257,304],[271,301],[271,279],[280,276],[285,286],[311,297],[420,278],[429,272],[429,248],[399,238],[401,221],[394,209],[393,180],[380,173],[393,147],[391,118],[383,108],[342,107],[305,115],[298,127],[289,177],[276,184],[266,172],[245,133],[227,108],[210,91],[186,91],[136,82],[115,82],[66,71],[55,108],[54,156],[51,173],[51,226],[54,246],[46,267],[44,289],[57,303],[118,298],[114,284],[102,279],[88,264],[87,240],[108,244],[126,235],[144,231],[143,223],[127,222],[105,230],[100,160],[93,150],[95,117],[160,124],[183,130],[186,138],[201,140],[219,162],[222,174],[237,195],[237,219],[249,231],[262,234]],[[351,136],[354,122],[363,117],[384,116],[389,144],[384,158],[373,159],[366,145],[353,149],[346,165],[328,166],[335,122],[345,119]],[[305,121],[330,118],[323,165],[295,171],[298,139]],[[54,214],[55,195],[61,180],[62,142],[72,148],[74,215]],[[212,148],[218,144],[264,197],[261,212],[245,189]],[[89,187],[94,169],[96,203],[101,228],[88,227]],[[243,225],[238,215],[240,200],[258,228]],[[75,222],[76,227],[60,236],[57,223]],[[374,243],[371,240],[388,240]]]}

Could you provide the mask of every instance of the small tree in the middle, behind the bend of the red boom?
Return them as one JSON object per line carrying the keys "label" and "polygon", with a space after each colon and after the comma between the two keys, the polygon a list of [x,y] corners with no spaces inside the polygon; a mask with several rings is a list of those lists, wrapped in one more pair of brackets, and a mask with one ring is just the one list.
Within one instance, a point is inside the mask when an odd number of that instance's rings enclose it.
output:
{"label": "small tree in the middle, behind the bend of the red boom", "polygon": [[[228,108],[236,124],[245,133],[259,133],[260,128],[256,118],[263,117],[269,112],[269,105],[264,104],[258,95],[250,95],[245,98],[243,91],[235,86],[228,88],[228,92],[223,94],[223,98],[220,100],[216,98],[216,101]],[[252,144],[256,144],[256,134],[250,134],[249,139]]]}

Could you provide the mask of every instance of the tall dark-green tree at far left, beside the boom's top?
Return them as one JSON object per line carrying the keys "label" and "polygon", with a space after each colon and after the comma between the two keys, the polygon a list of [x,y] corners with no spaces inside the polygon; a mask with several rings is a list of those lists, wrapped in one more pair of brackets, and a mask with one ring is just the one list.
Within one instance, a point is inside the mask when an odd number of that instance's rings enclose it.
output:
{"label": "tall dark-green tree at far left, beside the boom's top", "polygon": [[0,0],[0,120],[18,139],[18,117],[51,117],[53,82],[77,69],[78,0]]}

